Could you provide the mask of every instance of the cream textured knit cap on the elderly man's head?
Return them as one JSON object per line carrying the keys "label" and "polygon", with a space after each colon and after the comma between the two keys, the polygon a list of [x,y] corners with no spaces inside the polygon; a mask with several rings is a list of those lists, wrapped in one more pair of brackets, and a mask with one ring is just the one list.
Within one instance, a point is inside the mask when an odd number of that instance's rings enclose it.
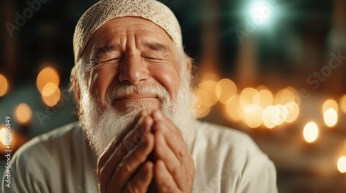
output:
{"label": "cream textured knit cap on the elderly man's head", "polygon": [[174,13],[156,0],[101,0],[86,10],[75,26],[73,52],[80,59],[91,35],[107,21],[118,17],[142,17],[160,26],[177,48],[182,47],[181,28]]}

